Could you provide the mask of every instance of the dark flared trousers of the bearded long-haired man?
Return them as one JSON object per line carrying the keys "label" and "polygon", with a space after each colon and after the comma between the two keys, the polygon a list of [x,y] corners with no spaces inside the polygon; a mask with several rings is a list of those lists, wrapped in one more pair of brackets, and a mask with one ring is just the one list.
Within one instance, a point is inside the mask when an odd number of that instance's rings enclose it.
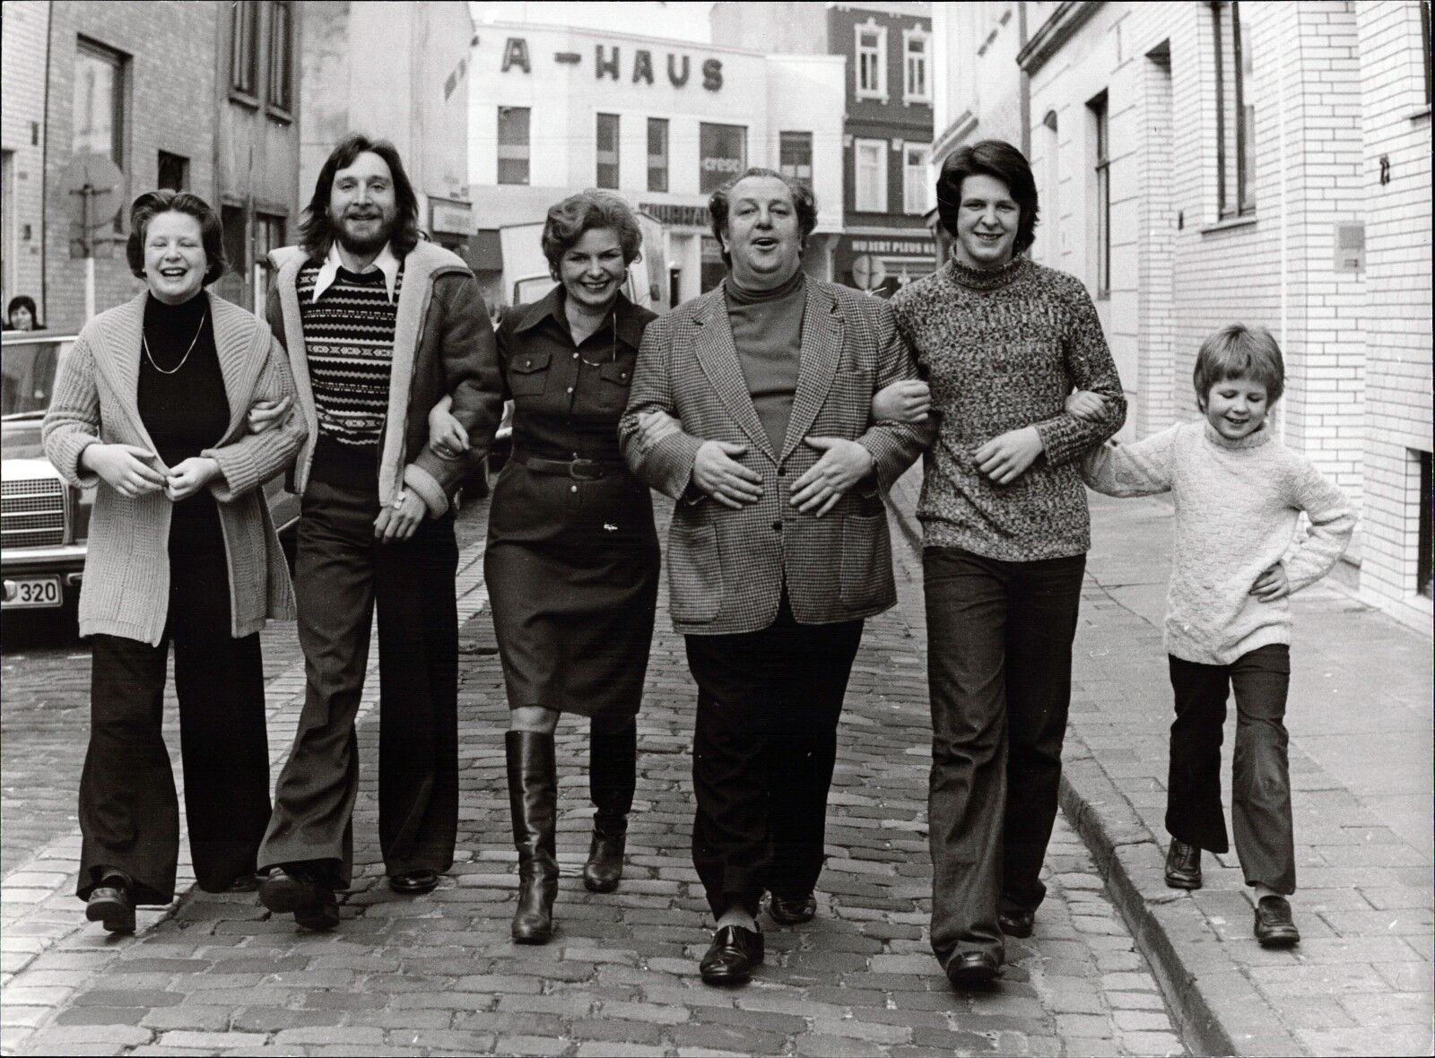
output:
{"label": "dark flared trousers of the bearded long-haired man", "polygon": [[353,869],[359,794],[354,717],[379,611],[379,846],[390,874],[448,870],[458,831],[458,545],[453,515],[408,540],[373,535],[372,486],[310,480],[298,522],[294,594],[304,710],[274,788],[260,866]]}

